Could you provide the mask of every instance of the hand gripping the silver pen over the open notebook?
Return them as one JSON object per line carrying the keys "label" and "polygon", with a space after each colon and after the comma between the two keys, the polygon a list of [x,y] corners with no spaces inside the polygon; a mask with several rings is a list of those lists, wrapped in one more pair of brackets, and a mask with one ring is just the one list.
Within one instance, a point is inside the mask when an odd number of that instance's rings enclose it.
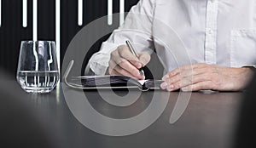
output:
{"label": "hand gripping the silver pen over the open notebook", "polygon": [[148,64],[150,55],[146,53],[137,55],[139,58],[133,55],[126,45],[119,46],[111,53],[108,74],[145,79],[138,69]]}

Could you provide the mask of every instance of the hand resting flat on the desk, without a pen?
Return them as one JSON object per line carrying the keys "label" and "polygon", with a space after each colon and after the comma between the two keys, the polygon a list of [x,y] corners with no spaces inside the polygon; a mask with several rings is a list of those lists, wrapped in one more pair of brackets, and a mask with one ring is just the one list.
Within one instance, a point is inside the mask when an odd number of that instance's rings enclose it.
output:
{"label": "hand resting flat on the desk, without a pen", "polygon": [[183,65],[168,72],[160,87],[167,91],[181,88],[183,91],[218,90],[239,91],[253,77],[253,68],[230,68],[219,65]]}

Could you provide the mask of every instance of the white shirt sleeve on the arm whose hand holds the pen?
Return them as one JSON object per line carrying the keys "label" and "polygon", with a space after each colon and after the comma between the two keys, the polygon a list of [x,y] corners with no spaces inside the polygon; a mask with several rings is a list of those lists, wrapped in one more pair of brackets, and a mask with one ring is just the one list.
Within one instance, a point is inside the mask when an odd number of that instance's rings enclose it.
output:
{"label": "white shirt sleeve on the arm whose hand holds the pen", "polygon": [[96,75],[105,75],[111,52],[126,40],[133,43],[137,52],[152,54],[152,24],[154,18],[154,0],[140,0],[133,6],[125,18],[125,22],[114,30],[106,42],[102,43],[99,52],[93,54],[85,69]]}

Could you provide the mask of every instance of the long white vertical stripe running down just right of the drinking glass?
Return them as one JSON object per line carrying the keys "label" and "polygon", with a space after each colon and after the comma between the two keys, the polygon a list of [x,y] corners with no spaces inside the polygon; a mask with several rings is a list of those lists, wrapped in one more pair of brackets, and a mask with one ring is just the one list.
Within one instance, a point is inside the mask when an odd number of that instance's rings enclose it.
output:
{"label": "long white vertical stripe running down just right of the drinking glass", "polygon": [[55,1],[55,43],[58,69],[61,71],[61,0]]}

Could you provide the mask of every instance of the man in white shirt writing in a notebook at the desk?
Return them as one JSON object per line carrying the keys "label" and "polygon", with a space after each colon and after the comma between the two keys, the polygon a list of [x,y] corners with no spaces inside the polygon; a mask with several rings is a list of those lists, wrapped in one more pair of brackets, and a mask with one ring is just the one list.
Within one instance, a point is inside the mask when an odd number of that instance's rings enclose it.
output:
{"label": "man in white shirt writing in a notebook at the desk", "polygon": [[[138,69],[147,65],[153,48],[165,68],[163,89],[242,90],[256,61],[255,8],[253,0],[141,0],[91,57],[90,69],[144,79]],[[177,48],[177,38],[185,49]],[[140,45],[139,58],[125,40]]]}

